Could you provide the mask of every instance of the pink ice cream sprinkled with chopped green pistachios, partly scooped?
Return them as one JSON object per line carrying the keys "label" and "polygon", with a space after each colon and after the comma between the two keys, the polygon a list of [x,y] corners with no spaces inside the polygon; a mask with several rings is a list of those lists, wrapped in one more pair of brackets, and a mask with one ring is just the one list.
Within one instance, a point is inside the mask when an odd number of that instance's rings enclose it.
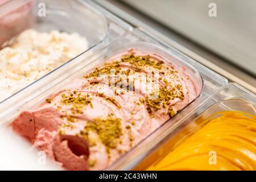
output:
{"label": "pink ice cream sprinkled with chopped green pistachios, partly scooped", "polygon": [[65,169],[105,169],[199,92],[185,69],[130,50],[24,111],[11,126]]}

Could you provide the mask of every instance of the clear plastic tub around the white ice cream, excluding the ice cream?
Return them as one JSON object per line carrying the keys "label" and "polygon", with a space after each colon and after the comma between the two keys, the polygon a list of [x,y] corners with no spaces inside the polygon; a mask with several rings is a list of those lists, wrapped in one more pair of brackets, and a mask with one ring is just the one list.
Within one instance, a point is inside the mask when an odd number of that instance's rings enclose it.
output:
{"label": "clear plastic tub around the white ice cream, excluding the ice cream", "polygon": [[[16,36],[30,28],[39,32],[52,30],[77,32],[88,42],[88,49],[80,52],[80,55],[88,51],[92,53],[131,30],[129,24],[92,1],[5,0],[0,2],[0,48],[12,45]],[[76,62],[76,59],[73,62]],[[60,67],[61,65],[57,65],[55,69]]]}

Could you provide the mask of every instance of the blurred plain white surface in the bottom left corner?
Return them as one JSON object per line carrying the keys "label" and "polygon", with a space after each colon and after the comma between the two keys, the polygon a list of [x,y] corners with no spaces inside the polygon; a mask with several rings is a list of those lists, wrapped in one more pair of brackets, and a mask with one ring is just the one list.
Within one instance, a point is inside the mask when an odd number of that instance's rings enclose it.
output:
{"label": "blurred plain white surface in the bottom left corner", "polygon": [[[31,148],[31,144],[0,128],[0,170],[58,170],[57,164],[44,158],[42,152]],[[46,159],[46,160],[44,160]]]}

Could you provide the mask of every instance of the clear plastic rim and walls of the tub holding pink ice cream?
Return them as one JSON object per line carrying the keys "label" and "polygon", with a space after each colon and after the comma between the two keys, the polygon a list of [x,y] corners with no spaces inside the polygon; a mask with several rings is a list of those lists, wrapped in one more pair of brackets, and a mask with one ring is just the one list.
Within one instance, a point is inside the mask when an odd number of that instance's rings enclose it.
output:
{"label": "clear plastic rim and walls of the tub holding pink ice cream", "polygon": [[[175,123],[179,122],[185,115],[199,107],[201,102],[207,100],[216,90],[227,84],[227,80],[217,73],[210,71],[208,68],[205,68],[195,60],[176,51],[174,48],[168,47],[144,34],[142,31],[135,29],[134,31],[126,32],[125,35],[117,38],[104,48],[100,48],[95,52],[85,52],[76,57],[76,63],[74,63],[74,60],[70,61],[55,72],[38,80],[29,88],[25,88],[22,92],[2,102],[0,105],[1,124],[3,126],[8,125],[14,118],[22,113],[22,111],[39,106],[45,102],[51,94],[57,93],[69,82],[76,78],[81,78],[86,72],[89,72],[106,60],[116,59],[119,55],[122,55],[124,52],[127,53],[130,49],[133,49],[138,55],[143,52],[145,55],[156,55],[161,57],[161,59],[174,63],[177,67],[187,72],[187,74],[193,78],[196,85],[197,94],[195,99],[189,102],[187,106],[181,108],[173,118],[169,119],[156,131],[165,131],[167,125],[175,125]],[[125,166],[128,161],[134,162],[138,160],[138,155],[140,155],[142,151],[146,152],[150,150],[151,147],[154,147],[152,141],[157,142],[158,140],[159,136],[155,135],[155,132],[153,132],[150,137],[142,139],[133,149],[121,155],[119,159],[106,169],[119,169],[121,166]],[[147,146],[146,148],[145,145]],[[142,150],[142,148],[145,150]]]}

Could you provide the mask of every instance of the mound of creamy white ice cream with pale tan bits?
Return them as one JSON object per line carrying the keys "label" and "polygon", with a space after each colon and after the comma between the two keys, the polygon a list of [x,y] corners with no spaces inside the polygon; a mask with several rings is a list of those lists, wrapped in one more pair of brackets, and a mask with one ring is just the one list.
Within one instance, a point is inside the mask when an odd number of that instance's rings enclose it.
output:
{"label": "mound of creamy white ice cream with pale tan bits", "polygon": [[77,33],[23,31],[0,50],[0,101],[88,49]]}

